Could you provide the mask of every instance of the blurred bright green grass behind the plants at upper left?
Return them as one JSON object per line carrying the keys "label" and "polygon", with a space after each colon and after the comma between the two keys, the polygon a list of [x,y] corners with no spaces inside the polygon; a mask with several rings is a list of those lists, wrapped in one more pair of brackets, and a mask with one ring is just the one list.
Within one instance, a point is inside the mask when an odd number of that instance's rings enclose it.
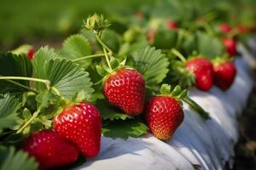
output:
{"label": "blurred bright green grass behind the plants at upper left", "polygon": [[0,50],[65,37],[94,12],[133,10],[154,0],[0,0]]}

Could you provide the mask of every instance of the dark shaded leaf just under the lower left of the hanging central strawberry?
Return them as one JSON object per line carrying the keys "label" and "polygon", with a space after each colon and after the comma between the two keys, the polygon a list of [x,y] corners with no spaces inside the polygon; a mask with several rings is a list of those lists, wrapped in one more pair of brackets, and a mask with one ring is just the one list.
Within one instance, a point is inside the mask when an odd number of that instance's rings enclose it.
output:
{"label": "dark shaded leaf just under the lower left of the hanging central strawberry", "polygon": [[133,117],[120,111],[113,105],[109,105],[105,99],[98,99],[96,101],[96,107],[100,110],[103,120],[125,120],[132,119]]}

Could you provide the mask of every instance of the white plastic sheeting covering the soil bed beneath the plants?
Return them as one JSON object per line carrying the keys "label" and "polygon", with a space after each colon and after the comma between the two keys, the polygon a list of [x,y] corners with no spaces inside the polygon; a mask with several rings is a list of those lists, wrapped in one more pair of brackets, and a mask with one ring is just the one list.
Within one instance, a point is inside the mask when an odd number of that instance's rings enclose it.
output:
{"label": "white plastic sheeting covering the soil bed beneath the plants", "polygon": [[100,154],[77,169],[93,170],[162,170],[223,169],[234,156],[238,139],[237,114],[247,104],[253,87],[248,65],[236,59],[237,76],[230,90],[213,87],[209,92],[190,90],[190,97],[212,117],[203,120],[184,105],[185,118],[169,142],[150,133],[143,138],[109,139],[102,137]]}

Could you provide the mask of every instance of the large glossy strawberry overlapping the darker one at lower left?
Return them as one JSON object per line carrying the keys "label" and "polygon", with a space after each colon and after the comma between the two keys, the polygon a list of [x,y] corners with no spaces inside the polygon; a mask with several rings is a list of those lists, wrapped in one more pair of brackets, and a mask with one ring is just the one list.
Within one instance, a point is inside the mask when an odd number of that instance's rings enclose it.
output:
{"label": "large glossy strawberry overlapping the darker one at lower left", "polygon": [[65,108],[54,119],[55,132],[77,145],[86,157],[99,153],[101,147],[102,117],[89,102],[80,102]]}

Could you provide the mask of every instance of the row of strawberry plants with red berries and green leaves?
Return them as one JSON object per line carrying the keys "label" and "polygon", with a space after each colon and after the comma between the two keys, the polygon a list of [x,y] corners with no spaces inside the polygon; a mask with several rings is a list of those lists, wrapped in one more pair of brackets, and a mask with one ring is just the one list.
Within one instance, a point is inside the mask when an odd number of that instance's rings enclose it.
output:
{"label": "row of strawberry plants with red berries and green leaves", "polygon": [[0,138],[20,135],[17,148],[34,157],[40,169],[49,169],[72,164],[79,156],[96,157],[102,135],[116,125],[118,130],[132,126],[126,118],[146,127],[131,136],[149,130],[163,141],[183,123],[183,102],[201,118],[210,118],[189,98],[189,89],[207,92],[215,85],[225,93],[232,87],[238,35],[246,34],[247,27],[214,23],[214,30],[206,16],[193,26],[143,12],[129,19],[125,31],[117,33],[103,15],[93,14],[84,20],[83,33],[67,38],[59,53],[21,46],[0,54],[3,63],[11,59],[18,65],[23,59],[22,74],[0,71],[0,84],[8,82],[5,92],[22,94],[17,108],[9,111],[17,113],[15,121]]}

